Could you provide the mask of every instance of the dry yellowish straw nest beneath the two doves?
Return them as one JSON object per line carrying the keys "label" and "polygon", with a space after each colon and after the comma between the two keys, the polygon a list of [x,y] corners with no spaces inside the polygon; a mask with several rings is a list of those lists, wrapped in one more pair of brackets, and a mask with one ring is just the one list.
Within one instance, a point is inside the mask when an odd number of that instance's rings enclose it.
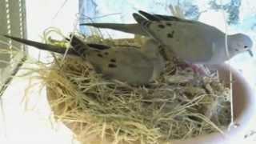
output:
{"label": "dry yellowish straw nest beneath the two doves", "polygon": [[[94,36],[86,41],[139,48],[144,40]],[[230,90],[216,76],[200,76],[172,59],[161,77],[146,86],[106,81],[81,59],[62,61],[62,56],[39,66],[38,74],[54,118],[83,143],[163,143],[225,129]]]}

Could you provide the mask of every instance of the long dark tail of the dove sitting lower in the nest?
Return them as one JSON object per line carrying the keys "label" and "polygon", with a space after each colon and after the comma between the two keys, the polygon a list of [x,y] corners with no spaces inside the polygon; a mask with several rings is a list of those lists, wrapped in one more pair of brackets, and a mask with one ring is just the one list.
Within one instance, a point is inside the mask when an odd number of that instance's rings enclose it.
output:
{"label": "long dark tail of the dove sitting lower in the nest", "polygon": [[[10,38],[14,41],[21,42],[21,43],[29,45],[29,46],[34,46],[34,47],[38,48],[39,50],[48,50],[48,51],[55,52],[58,54],[65,54],[65,52],[66,52],[66,47],[63,47],[63,46],[54,46],[54,45],[45,44],[45,43],[41,43],[41,42],[34,42],[34,41],[30,41],[30,40],[27,40],[24,38],[16,38],[16,37],[12,37],[9,35],[4,35],[4,36],[6,38]],[[78,55],[72,49],[70,49],[67,52],[67,54]]]}

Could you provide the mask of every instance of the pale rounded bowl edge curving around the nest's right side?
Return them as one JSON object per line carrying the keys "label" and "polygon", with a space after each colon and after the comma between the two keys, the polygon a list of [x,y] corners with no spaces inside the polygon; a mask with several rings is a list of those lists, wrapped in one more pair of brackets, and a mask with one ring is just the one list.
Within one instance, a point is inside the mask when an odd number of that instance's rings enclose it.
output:
{"label": "pale rounded bowl edge curving around the nest's right side", "polygon": [[233,74],[234,125],[225,134],[213,133],[185,140],[176,140],[172,144],[235,144],[240,143],[250,133],[255,123],[256,96],[246,79],[238,70],[228,65],[218,66],[220,78],[230,85],[230,71]]}

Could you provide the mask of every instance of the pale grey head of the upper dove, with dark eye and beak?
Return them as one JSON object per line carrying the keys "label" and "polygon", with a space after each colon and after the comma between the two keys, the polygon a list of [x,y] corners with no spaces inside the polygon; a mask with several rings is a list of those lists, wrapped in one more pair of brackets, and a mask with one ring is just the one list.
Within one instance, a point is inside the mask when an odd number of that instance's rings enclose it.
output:
{"label": "pale grey head of the upper dove, with dark eye and beak", "polygon": [[232,34],[228,36],[229,52],[231,56],[240,54],[242,52],[249,52],[250,56],[253,56],[252,47],[253,41],[246,34]]}

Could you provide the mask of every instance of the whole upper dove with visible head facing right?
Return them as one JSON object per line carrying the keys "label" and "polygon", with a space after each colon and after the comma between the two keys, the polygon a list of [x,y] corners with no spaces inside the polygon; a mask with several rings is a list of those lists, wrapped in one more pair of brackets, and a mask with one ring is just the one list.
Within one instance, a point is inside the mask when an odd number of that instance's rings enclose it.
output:
{"label": "whole upper dove with visible head facing right", "polygon": [[253,56],[251,51],[253,42],[246,34],[227,35],[227,53],[226,34],[214,26],[174,16],[148,14],[142,10],[138,12],[139,14],[133,14],[138,22],[134,24],[82,23],[80,25],[149,36],[160,42],[165,47],[166,53],[174,52],[178,58],[188,63],[221,64],[244,51],[248,51]]}

